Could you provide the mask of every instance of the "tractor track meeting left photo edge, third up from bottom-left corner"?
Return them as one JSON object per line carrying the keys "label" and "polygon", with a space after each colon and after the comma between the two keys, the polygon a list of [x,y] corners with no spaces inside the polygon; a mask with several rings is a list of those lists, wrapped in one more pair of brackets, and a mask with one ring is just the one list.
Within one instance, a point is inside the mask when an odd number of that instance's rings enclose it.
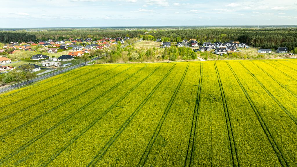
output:
{"label": "tractor track meeting left photo edge, third up from bottom-left corner", "polygon": [[[129,67],[129,68],[131,68],[131,67]],[[92,78],[89,78],[89,79],[87,79],[87,80],[85,80],[85,81],[83,81],[83,82],[90,81],[90,80],[92,80],[92,79],[94,79],[94,78],[97,78],[97,77],[99,77],[99,76],[101,76],[101,75],[104,75],[105,73],[108,73],[108,72],[111,71],[111,70],[113,70],[113,68],[110,69],[110,70],[107,70],[107,71],[105,71],[105,72],[103,72],[103,73],[100,73],[100,74],[98,74],[98,75],[96,75],[96,76],[94,76],[94,77],[92,77]],[[128,70],[128,69],[126,69],[126,70]],[[124,71],[123,71],[123,72],[124,72]],[[115,75],[115,76],[116,76],[116,75]],[[109,79],[110,79],[110,78],[109,78]],[[105,81],[106,81],[106,80],[105,80]],[[75,86],[78,86],[79,84],[80,84],[80,83],[75,84],[75,85],[73,85],[73,86],[71,86],[71,87],[69,87],[69,88],[67,88],[67,89],[64,89],[63,91],[70,90],[70,89],[74,88]],[[87,90],[89,90],[89,89],[87,89]],[[23,111],[26,111],[28,108],[31,108],[31,107],[34,106],[34,105],[38,105],[38,104],[40,104],[40,103],[42,103],[42,102],[44,102],[44,101],[46,101],[46,100],[49,100],[49,99],[51,99],[51,98],[53,98],[53,97],[56,97],[56,96],[58,96],[58,95],[59,95],[59,94],[56,93],[56,94],[54,94],[54,95],[52,95],[52,96],[50,96],[50,97],[48,97],[48,98],[45,98],[45,99],[43,99],[43,100],[41,100],[41,101],[39,101],[39,102],[37,102],[37,103],[31,104],[31,105],[29,105],[29,106],[27,106],[27,107],[25,107],[25,108],[23,108],[23,109],[21,109],[21,110],[15,112],[15,113],[12,113],[12,114],[10,114],[10,115],[8,115],[8,116],[5,116],[5,117],[3,117],[3,118],[0,119],[0,123],[1,123],[2,121],[4,121],[5,119],[8,119],[8,118],[10,118],[10,117],[12,117],[12,116],[15,116],[16,114],[19,114],[19,113],[21,113],[21,112],[23,112]],[[67,101],[67,102],[68,102],[68,101]],[[62,103],[62,104],[65,104],[65,102]],[[61,104],[60,104],[60,105],[61,105]],[[60,106],[60,105],[59,105],[59,106]]]}

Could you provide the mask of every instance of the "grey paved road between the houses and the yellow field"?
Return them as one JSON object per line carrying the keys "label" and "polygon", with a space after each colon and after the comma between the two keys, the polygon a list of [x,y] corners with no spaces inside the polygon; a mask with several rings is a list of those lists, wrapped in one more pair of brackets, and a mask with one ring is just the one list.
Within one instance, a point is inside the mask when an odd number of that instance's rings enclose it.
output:
{"label": "grey paved road between the houses and the yellow field", "polygon": [[[89,62],[94,61],[96,59],[98,59],[98,57],[91,59]],[[89,63],[89,62],[87,62],[87,63]],[[80,64],[73,65],[73,66],[65,68],[65,69],[62,69],[62,73],[66,72],[66,71],[69,71],[69,70],[73,70],[73,69],[78,68],[78,67],[83,66],[83,65],[85,65],[84,62],[82,62]],[[60,74],[60,73],[61,73],[61,70],[55,70],[55,75]],[[36,78],[33,78],[33,79],[29,80],[29,83],[40,81],[42,79],[52,77],[52,76],[53,76],[53,73],[48,73],[48,74],[45,74],[45,75],[42,75],[42,76],[38,76]],[[20,82],[20,86],[23,86],[23,85],[26,85],[26,84],[27,84],[27,81]],[[14,85],[11,85],[11,86],[7,86],[7,87],[5,87],[3,89],[0,89],[0,93],[5,92],[5,91],[9,91],[9,90],[15,89],[15,88],[18,88],[18,83],[14,84]]]}

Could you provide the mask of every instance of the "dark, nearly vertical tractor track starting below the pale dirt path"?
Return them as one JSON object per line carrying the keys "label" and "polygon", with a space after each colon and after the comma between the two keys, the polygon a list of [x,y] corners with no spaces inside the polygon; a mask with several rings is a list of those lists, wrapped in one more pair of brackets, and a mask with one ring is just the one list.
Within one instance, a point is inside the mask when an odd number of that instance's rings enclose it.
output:
{"label": "dark, nearly vertical tractor track starting below the pale dirt path", "polygon": [[189,143],[188,143],[188,149],[187,149],[187,155],[186,155],[184,167],[191,166],[191,163],[193,160],[192,157],[194,156],[193,150],[194,150],[194,146],[195,146],[196,124],[197,124],[200,95],[201,95],[202,73],[203,73],[203,64],[201,63],[200,64],[199,85],[198,85],[198,91],[197,91],[197,96],[196,96],[196,104],[195,104],[195,108],[194,108],[194,112],[193,112],[191,133],[190,133],[190,137],[189,137]]}

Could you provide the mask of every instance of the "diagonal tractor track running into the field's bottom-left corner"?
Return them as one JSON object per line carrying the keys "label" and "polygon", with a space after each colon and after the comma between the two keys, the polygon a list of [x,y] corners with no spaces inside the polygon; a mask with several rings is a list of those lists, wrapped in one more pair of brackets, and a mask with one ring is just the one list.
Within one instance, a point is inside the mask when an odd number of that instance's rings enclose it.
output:
{"label": "diagonal tractor track running into the field's bottom-left corner", "polygon": [[[145,66],[147,67],[147,65]],[[143,67],[143,68],[145,68]],[[135,72],[134,74],[132,74],[131,76],[129,76],[128,78],[126,78],[125,80],[121,81],[120,83],[117,83],[115,86],[113,86],[111,89],[105,91],[103,94],[97,96],[95,99],[91,100],[89,103],[87,103],[86,105],[82,106],[80,109],[78,109],[77,111],[75,111],[74,113],[70,114],[69,116],[67,116],[66,118],[64,118],[63,120],[61,120],[60,122],[56,123],[54,126],[50,127],[49,129],[45,130],[44,132],[40,133],[38,136],[36,136],[35,138],[31,139],[28,143],[24,144],[23,146],[20,146],[18,149],[16,149],[15,151],[13,151],[12,153],[10,153],[9,155],[5,156],[4,158],[0,159],[0,165],[10,159],[11,157],[15,156],[16,154],[18,154],[20,151],[22,151],[23,149],[25,149],[26,147],[28,147],[29,145],[31,145],[32,143],[34,143],[35,141],[37,141],[38,139],[42,138],[45,134],[49,133],[50,131],[52,131],[53,129],[55,129],[56,127],[58,127],[59,125],[61,125],[62,123],[64,123],[65,121],[67,121],[68,119],[70,119],[72,116],[74,116],[75,114],[78,114],[80,111],[82,111],[84,108],[86,108],[87,106],[89,106],[91,103],[93,103],[94,101],[96,101],[97,99],[99,99],[100,97],[104,96],[105,94],[107,94],[108,92],[110,92],[112,89],[114,89],[115,87],[117,87],[119,84],[123,83],[124,81],[127,81],[129,78],[131,78],[132,76],[134,76],[135,74],[137,74],[138,72],[140,72],[143,68],[141,68],[140,70],[138,70],[137,72]],[[123,71],[122,71],[123,72]],[[121,73],[122,73],[121,72]],[[99,83],[99,84],[102,84]],[[97,85],[93,86],[96,87]],[[93,87],[91,89],[93,89]],[[91,90],[89,89],[89,90]],[[82,94],[80,94],[82,95]],[[66,102],[64,102],[66,103]]]}

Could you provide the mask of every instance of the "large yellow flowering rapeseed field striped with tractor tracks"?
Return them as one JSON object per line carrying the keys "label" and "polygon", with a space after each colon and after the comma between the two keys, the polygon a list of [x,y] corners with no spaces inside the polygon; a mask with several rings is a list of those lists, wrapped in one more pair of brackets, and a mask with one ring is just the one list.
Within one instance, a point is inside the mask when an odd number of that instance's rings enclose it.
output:
{"label": "large yellow flowering rapeseed field striped with tractor tracks", "polygon": [[105,64],[0,94],[0,166],[297,166],[297,60]]}

